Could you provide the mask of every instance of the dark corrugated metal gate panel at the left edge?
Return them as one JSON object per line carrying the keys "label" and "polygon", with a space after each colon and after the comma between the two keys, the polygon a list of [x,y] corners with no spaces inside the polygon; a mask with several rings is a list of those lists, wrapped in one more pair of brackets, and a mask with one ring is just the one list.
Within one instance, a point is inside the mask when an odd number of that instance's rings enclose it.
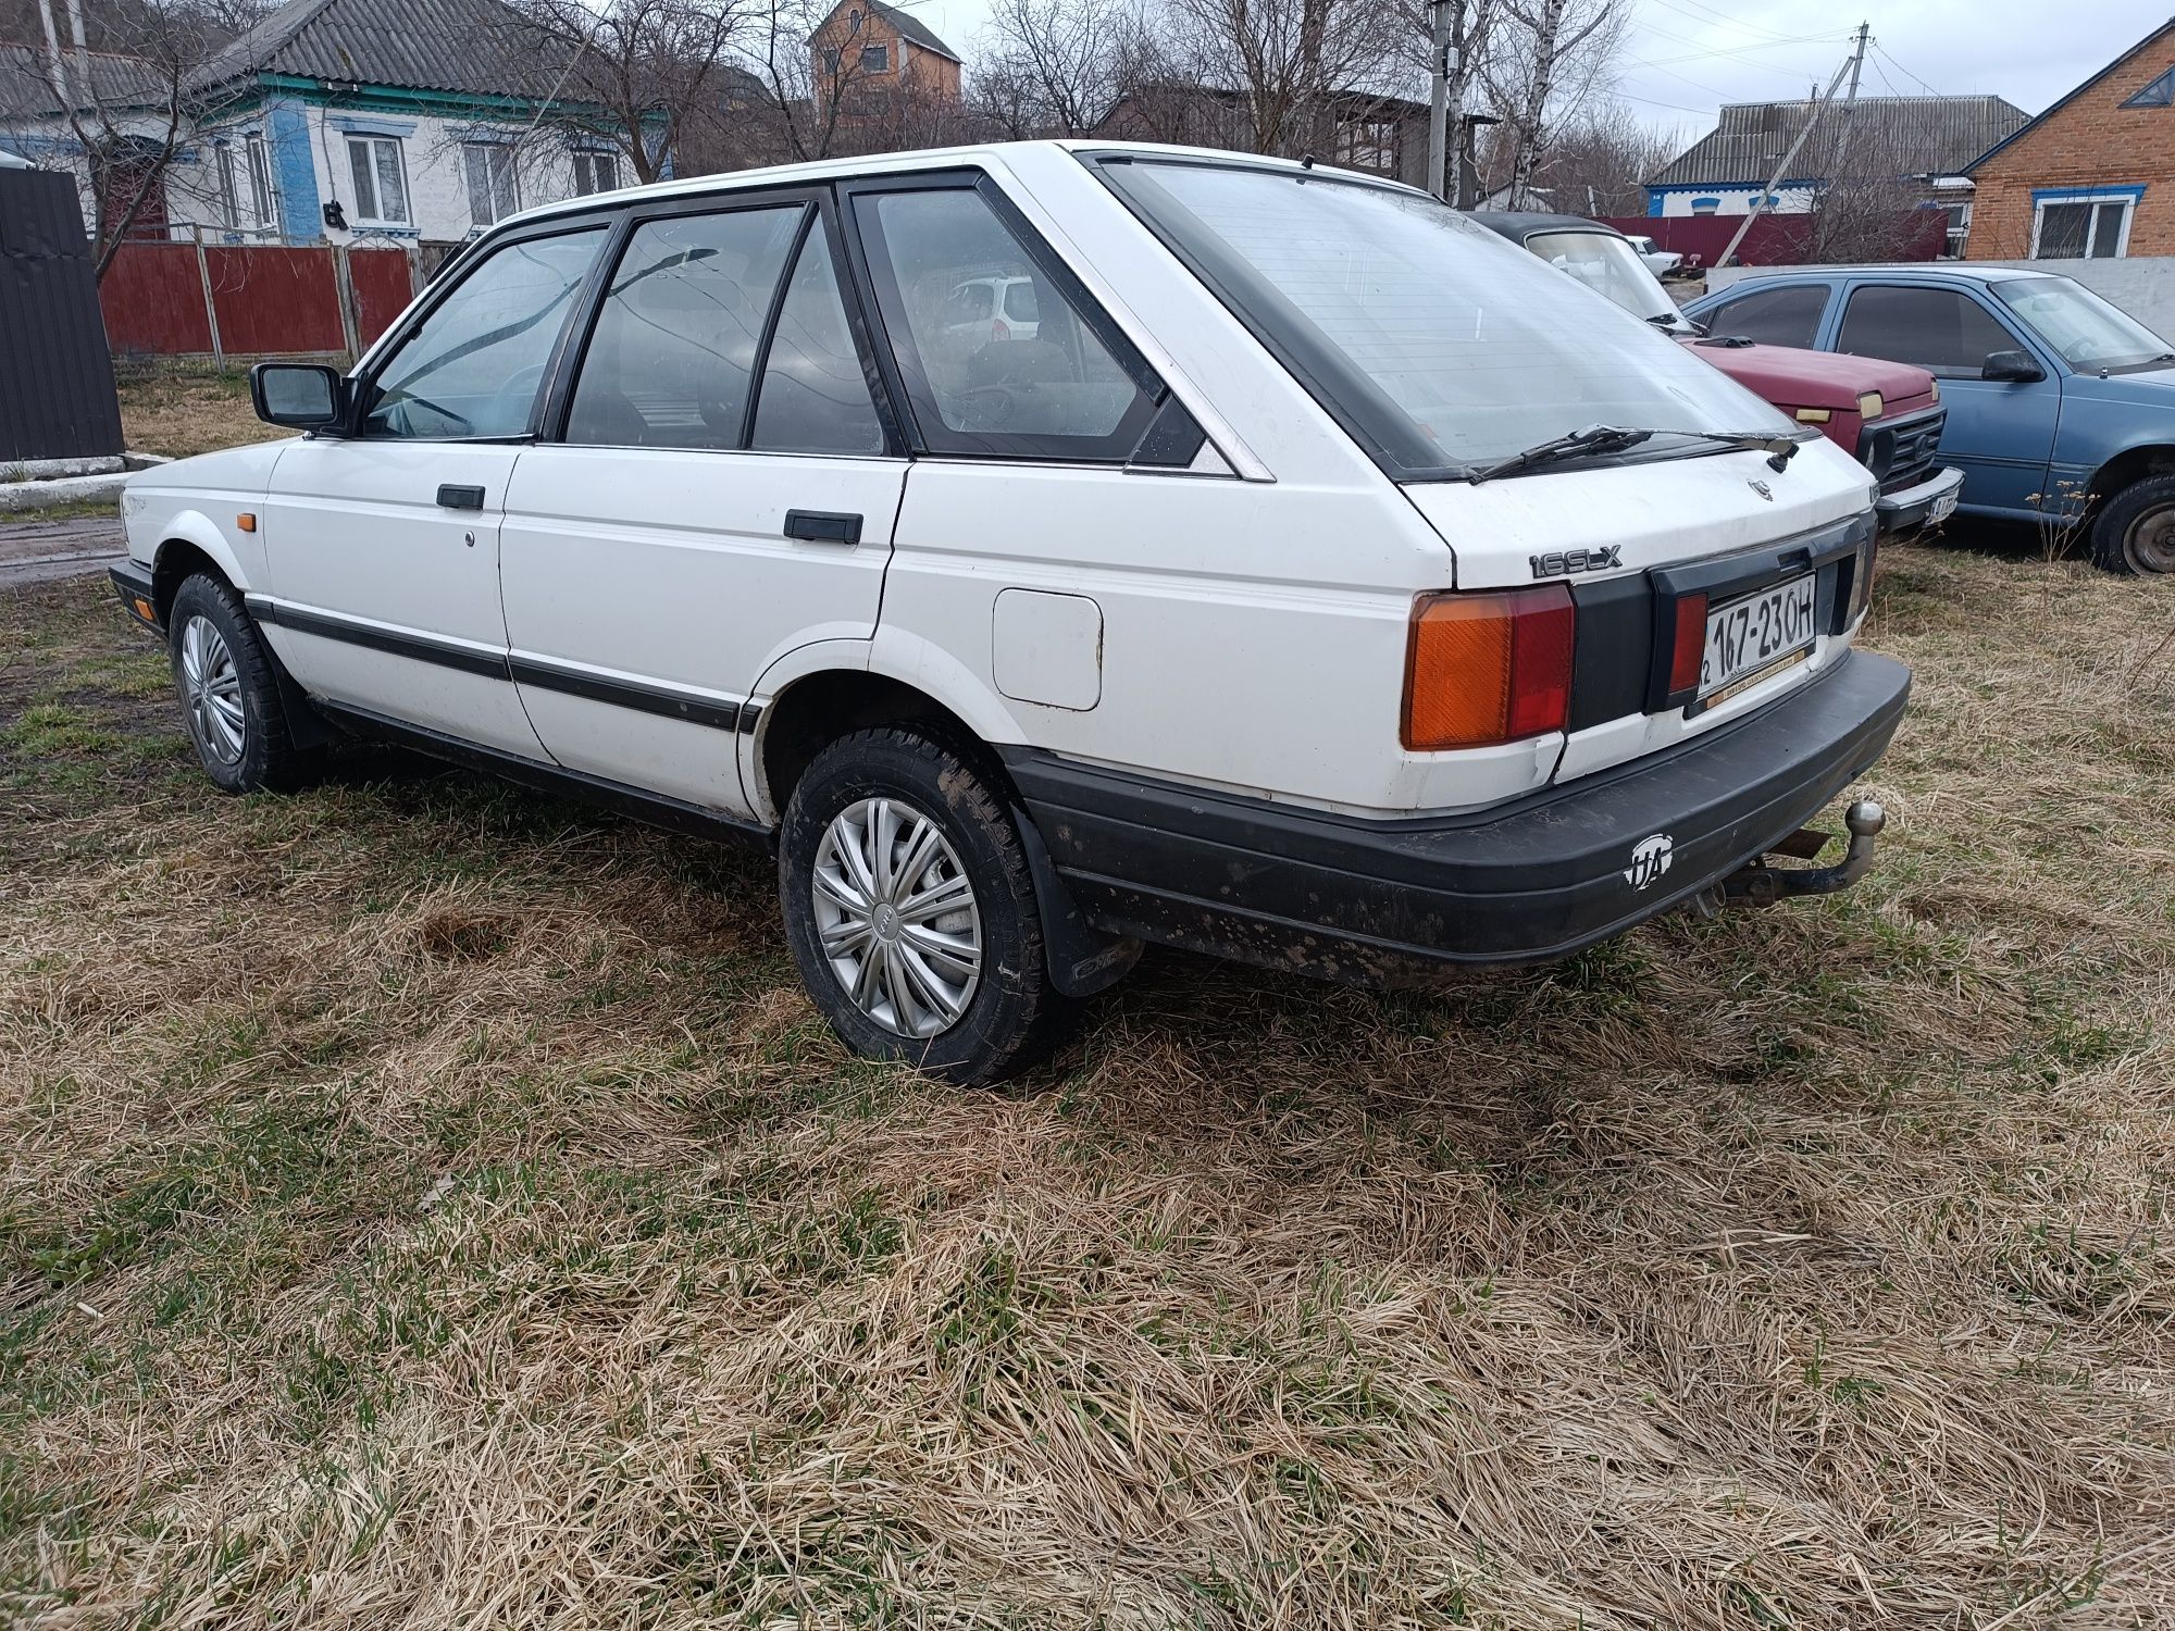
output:
{"label": "dark corrugated metal gate panel at the left edge", "polygon": [[0,170],[0,465],[120,450],[122,409],[76,183]]}

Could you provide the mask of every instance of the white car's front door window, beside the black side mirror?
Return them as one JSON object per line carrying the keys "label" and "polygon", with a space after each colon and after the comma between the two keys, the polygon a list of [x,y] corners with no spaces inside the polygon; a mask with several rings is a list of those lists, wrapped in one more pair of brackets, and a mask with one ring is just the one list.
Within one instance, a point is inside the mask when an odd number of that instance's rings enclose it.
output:
{"label": "white car's front door window, beside the black side mirror", "polygon": [[450,441],[531,428],[544,368],[598,252],[602,226],[492,250],[378,365],[363,435]]}

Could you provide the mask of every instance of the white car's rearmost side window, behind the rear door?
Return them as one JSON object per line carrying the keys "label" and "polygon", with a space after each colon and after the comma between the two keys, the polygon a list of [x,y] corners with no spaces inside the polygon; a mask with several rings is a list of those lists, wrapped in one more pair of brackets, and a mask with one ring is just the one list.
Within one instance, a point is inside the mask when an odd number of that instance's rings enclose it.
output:
{"label": "white car's rearmost side window, behind the rear door", "polygon": [[1138,357],[1120,361],[1085,291],[1066,287],[990,198],[874,191],[855,198],[855,220],[922,441],[1055,459],[1133,450],[1159,394],[1153,374]]}

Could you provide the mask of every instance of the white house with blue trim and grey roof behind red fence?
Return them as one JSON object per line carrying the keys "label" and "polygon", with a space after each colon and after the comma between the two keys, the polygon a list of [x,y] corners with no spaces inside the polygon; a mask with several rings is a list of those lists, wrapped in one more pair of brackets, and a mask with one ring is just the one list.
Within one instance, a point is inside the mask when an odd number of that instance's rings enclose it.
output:
{"label": "white house with blue trim and grey roof behind red fence", "polygon": [[[616,141],[570,135],[594,117],[546,117],[594,113],[561,98],[568,57],[498,0],[287,0],[189,76],[189,128],[146,224],[217,241],[452,244],[515,209],[626,185]],[[37,163],[74,146],[65,120],[0,128],[0,148],[26,144]]]}

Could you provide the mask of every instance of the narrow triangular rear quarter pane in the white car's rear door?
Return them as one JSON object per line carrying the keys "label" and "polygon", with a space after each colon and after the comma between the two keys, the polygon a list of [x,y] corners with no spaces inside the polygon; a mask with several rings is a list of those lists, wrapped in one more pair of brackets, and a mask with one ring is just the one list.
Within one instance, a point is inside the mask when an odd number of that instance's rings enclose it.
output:
{"label": "narrow triangular rear quarter pane in the white car's rear door", "polygon": [[883,422],[846,324],[822,222],[809,226],[785,285],[755,398],[753,446],[768,452],[883,452]]}

